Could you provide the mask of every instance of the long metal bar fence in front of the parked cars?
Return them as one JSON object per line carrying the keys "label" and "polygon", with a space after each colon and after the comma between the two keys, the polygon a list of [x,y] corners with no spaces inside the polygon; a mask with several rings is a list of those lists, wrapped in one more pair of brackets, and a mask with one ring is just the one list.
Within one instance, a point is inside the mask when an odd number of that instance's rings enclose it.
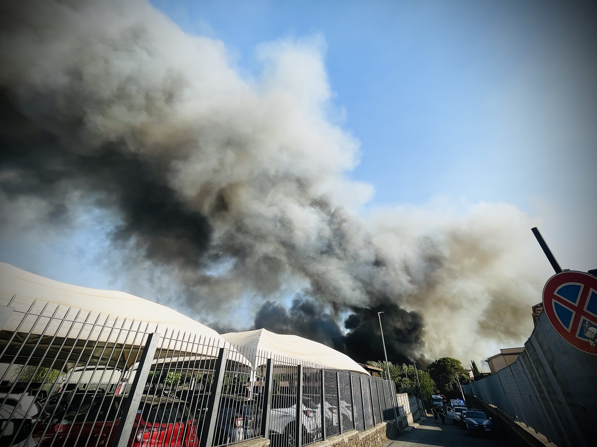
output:
{"label": "long metal bar fence in front of the parked cars", "polygon": [[396,420],[393,382],[221,337],[51,303],[0,328],[2,446],[301,447]]}

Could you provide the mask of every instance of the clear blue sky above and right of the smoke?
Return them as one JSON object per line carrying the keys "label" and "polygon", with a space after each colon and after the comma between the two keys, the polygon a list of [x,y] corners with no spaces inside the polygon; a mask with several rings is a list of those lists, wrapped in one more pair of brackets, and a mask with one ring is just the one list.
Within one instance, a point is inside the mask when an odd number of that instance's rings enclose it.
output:
{"label": "clear blue sky above and right of the smoke", "polygon": [[442,194],[503,200],[533,213],[559,190],[543,181],[544,171],[574,169],[552,144],[566,139],[559,125],[575,119],[576,107],[567,106],[578,100],[564,85],[578,83],[576,66],[561,64],[570,52],[562,42],[569,20],[558,20],[553,8],[475,1],[154,4],[187,32],[221,39],[239,69],[253,75],[260,42],[321,35],[344,127],[362,143],[352,177],[375,185],[371,204],[419,204]]}

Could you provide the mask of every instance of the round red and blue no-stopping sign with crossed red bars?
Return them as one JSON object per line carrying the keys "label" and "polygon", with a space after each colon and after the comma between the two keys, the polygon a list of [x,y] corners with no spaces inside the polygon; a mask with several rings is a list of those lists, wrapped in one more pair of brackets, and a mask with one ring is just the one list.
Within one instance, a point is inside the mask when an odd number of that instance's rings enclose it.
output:
{"label": "round red and blue no-stopping sign with crossed red bars", "polygon": [[553,275],[543,287],[543,309],[564,340],[597,355],[597,277],[573,271]]}

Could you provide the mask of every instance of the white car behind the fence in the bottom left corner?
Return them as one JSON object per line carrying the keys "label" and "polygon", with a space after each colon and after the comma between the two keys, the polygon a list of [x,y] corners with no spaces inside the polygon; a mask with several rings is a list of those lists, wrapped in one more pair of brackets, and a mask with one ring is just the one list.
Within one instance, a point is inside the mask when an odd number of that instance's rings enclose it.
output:
{"label": "white car behind the fence in the bottom left corner", "polygon": [[[4,401],[5,398],[7,398],[7,394],[1,393],[0,401]],[[3,447],[33,447],[37,445],[31,432],[39,414],[40,409],[33,396],[8,395],[6,402],[0,408],[0,432],[4,431],[0,437],[0,445]]]}

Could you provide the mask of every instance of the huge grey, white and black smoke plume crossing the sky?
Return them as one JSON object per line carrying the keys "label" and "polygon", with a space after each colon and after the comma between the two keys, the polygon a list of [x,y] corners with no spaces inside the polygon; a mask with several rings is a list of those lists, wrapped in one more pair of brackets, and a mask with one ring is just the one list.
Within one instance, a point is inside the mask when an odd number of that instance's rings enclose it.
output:
{"label": "huge grey, white and black smoke plume crossing the sky", "polygon": [[333,119],[322,39],[261,45],[263,72],[242,79],[222,42],[146,2],[0,8],[5,209],[30,200],[56,225],[104,210],[113,249],[165,269],[194,316],[230,325],[251,302],[237,327],[361,361],[381,358],[380,311],[394,361],[468,361],[529,333],[540,281],[523,213],[356,213],[373,190],[347,179],[359,142]]}

